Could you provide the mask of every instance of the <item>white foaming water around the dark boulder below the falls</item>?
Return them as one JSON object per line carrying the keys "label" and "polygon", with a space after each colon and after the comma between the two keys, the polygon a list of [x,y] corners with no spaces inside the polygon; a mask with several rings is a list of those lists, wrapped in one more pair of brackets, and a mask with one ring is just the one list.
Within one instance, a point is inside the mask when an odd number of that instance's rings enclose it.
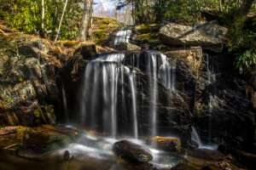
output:
{"label": "white foaming water around the dark boulder below the falls", "polygon": [[[177,165],[179,158],[170,155],[162,150],[155,150],[142,140],[138,139],[127,139],[134,144],[139,144],[145,150],[149,150],[153,156],[153,160],[150,163],[154,167],[171,168]],[[113,138],[101,138],[101,137],[91,137],[88,135],[83,135],[78,140],[78,143],[73,143],[67,145],[63,150],[59,150],[58,155],[63,156],[64,152],[68,150],[71,156],[75,157],[78,161],[84,161],[86,157],[94,158],[96,160],[113,160],[115,162],[115,156],[113,155],[113,144],[117,142],[118,139]]]}

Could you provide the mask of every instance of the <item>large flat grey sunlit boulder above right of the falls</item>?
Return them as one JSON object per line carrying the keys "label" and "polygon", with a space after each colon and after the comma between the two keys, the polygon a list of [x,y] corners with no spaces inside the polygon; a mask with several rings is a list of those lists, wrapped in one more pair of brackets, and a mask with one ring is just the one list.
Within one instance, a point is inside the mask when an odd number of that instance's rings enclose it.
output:
{"label": "large flat grey sunlit boulder above right of the falls", "polygon": [[220,52],[227,31],[215,22],[195,27],[169,23],[160,29],[160,40],[171,46],[201,46]]}

